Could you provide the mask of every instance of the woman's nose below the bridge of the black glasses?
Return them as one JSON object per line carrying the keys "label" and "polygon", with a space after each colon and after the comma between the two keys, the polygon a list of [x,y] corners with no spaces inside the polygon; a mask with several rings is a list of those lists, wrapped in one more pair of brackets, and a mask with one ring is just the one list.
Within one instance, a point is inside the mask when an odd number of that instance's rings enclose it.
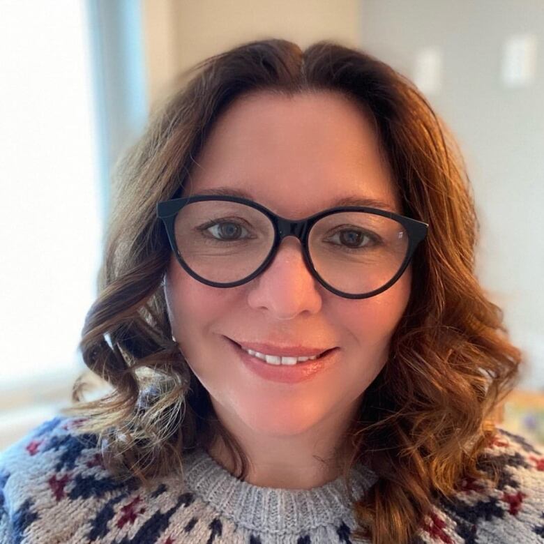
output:
{"label": "woman's nose below the bridge of the black glasses", "polygon": [[321,287],[304,262],[301,242],[287,236],[269,267],[250,282],[248,304],[275,319],[293,319],[302,312],[319,312]]}

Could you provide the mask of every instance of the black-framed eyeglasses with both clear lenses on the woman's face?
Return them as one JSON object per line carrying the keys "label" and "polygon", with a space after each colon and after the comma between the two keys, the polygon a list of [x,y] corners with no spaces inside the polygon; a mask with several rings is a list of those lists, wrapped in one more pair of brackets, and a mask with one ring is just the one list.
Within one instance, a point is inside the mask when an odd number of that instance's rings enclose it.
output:
{"label": "black-framed eyeglasses with both clear lenses on the woman's face", "polygon": [[367,299],[391,287],[407,268],[428,223],[361,206],[282,218],[252,200],[193,195],[157,204],[172,251],[193,278],[236,287],[271,264],[286,236],[301,241],[308,270],[346,299]]}

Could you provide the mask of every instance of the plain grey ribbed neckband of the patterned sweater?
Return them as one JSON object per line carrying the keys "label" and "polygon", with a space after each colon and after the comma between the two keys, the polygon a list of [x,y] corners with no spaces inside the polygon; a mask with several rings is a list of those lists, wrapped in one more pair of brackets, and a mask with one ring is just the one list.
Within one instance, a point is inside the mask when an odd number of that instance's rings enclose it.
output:
{"label": "plain grey ribbed neckband of the patterned sweater", "polygon": [[[217,513],[253,531],[297,533],[352,516],[342,476],[309,490],[266,488],[239,480],[198,448],[185,455],[183,479]],[[376,480],[365,465],[352,467],[354,497],[362,497]]]}

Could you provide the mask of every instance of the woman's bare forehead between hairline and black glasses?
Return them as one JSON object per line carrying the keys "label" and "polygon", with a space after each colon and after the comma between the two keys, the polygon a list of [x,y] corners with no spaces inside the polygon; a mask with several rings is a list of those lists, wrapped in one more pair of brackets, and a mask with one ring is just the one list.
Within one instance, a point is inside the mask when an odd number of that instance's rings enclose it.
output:
{"label": "woman's bare forehead between hairline and black glasses", "polygon": [[338,93],[259,93],[211,129],[183,196],[250,198],[285,216],[331,206],[400,211],[369,117]]}

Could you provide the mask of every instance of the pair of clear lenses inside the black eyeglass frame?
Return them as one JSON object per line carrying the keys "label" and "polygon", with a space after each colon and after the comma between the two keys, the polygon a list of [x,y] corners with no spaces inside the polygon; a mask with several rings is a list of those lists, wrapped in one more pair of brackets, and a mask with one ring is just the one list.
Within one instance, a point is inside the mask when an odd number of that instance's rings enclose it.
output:
{"label": "pair of clear lenses inside the black eyeglass frame", "polygon": [[[268,257],[274,227],[261,211],[238,202],[206,200],[176,216],[178,251],[205,280],[230,283],[255,272]],[[346,294],[367,294],[399,271],[409,247],[400,222],[361,211],[333,213],[310,230],[308,250],[315,270]]]}

